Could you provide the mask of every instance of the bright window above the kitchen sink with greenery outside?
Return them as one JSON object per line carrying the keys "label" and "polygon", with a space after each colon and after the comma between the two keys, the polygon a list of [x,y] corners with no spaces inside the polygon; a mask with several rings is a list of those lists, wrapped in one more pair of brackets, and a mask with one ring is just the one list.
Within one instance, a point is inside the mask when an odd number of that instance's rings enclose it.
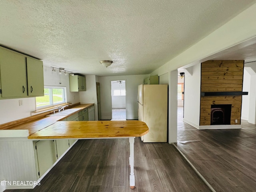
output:
{"label": "bright window above the kitchen sink with greenery outside", "polygon": [[50,107],[66,103],[66,88],[44,87],[44,96],[36,97],[36,108]]}

